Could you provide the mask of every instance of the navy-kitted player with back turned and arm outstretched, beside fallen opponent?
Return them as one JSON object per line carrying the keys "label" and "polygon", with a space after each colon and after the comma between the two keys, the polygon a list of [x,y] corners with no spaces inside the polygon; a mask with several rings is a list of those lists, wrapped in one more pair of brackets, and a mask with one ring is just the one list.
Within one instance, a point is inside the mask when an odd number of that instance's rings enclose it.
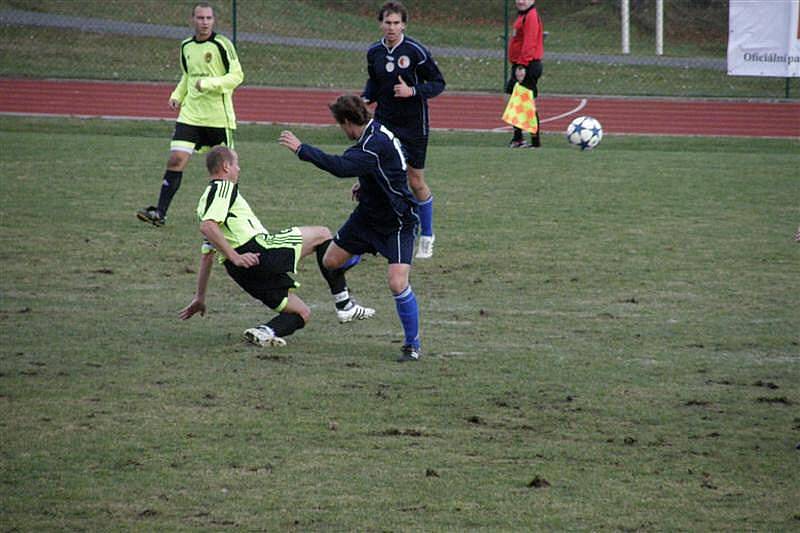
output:
{"label": "navy-kitted player with back turned and arm outstretched, beside fallen opponent", "polygon": [[303,160],[336,177],[358,177],[353,197],[358,205],[339,228],[322,258],[326,269],[346,267],[353,257],[379,253],[389,261],[389,289],[403,325],[405,342],[399,362],[417,361],[422,353],[419,307],[409,284],[418,223],[417,201],[408,187],[407,165],[400,141],[370,117],[356,95],[340,96],[330,105],[334,119],[356,143],[341,156],[301,143],[290,131],[279,142]]}

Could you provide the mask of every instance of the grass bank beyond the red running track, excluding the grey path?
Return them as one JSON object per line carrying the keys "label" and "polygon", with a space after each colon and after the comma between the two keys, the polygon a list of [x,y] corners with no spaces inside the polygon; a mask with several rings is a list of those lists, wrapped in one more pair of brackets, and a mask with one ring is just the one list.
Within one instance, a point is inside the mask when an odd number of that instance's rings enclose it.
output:
{"label": "grass bank beyond the red running track, excluding the grey path", "polygon": [[[429,47],[465,47],[502,51],[504,13],[501,3],[482,0],[427,0],[409,4],[408,34]],[[618,54],[620,23],[612,2],[591,5],[584,0],[540,6],[550,53]],[[191,2],[143,0],[95,2],[74,0],[0,0],[4,8],[68,16],[106,18],[149,24],[185,25],[191,33]],[[271,1],[239,2],[237,31],[266,35],[362,42],[350,51],[278,45],[241,40],[239,54],[248,85],[336,87],[361,89],[366,79],[365,48],[380,37],[369,2]],[[689,9],[689,13],[679,13]],[[678,57],[725,57],[725,33],[709,32],[704,19],[692,16],[691,3],[673,6],[667,24],[665,53]],[[709,8],[711,9],[711,8]],[[420,16],[417,16],[417,13]],[[509,16],[513,19],[514,10]],[[712,17],[719,19],[724,13]],[[705,16],[709,16],[705,13]],[[219,31],[232,35],[230,2],[217,3]],[[649,19],[648,19],[649,20]],[[678,32],[678,34],[673,34]],[[698,37],[698,35],[700,35]],[[72,29],[0,27],[0,76],[92,78],[174,82],[180,76],[178,41],[148,37],[79,32]],[[653,31],[631,30],[632,55],[654,55]],[[64,43],[69,43],[65,46]],[[498,58],[436,56],[449,90],[500,91],[507,74]],[[656,66],[624,66],[560,62],[545,56],[542,94],[629,94],[783,98],[786,80],[728,76],[724,71]],[[789,96],[797,98],[797,83]]]}

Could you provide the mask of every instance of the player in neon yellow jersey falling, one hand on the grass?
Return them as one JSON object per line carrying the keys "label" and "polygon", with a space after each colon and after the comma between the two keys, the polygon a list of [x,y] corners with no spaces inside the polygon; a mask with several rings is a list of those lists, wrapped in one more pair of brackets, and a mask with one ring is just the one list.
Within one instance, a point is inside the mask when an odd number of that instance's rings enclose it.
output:
{"label": "player in neon yellow jersey falling, one hand on the grass", "polygon": [[233,280],[250,296],[278,313],[272,320],[249,328],[245,338],[259,346],[284,346],[283,337],[304,327],[311,310],[293,291],[299,285],[290,274],[297,272],[302,257],[316,252],[320,272],[333,294],[339,322],[371,318],[374,309],[350,298],[346,268],[327,269],[322,259],[332,242],[324,226],[292,227],[271,234],[258,220],[239,192],[239,156],[225,146],[213,148],[206,157],[211,174],[197,216],[205,237],[194,298],[180,312],[186,320],[206,311],[206,290],[214,265],[214,253]]}

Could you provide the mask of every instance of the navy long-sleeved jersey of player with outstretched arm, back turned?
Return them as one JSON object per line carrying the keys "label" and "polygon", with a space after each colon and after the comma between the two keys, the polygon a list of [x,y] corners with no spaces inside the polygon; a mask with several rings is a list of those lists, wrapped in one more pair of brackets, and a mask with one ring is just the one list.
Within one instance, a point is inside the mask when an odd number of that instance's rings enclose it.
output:
{"label": "navy long-sleeved jersey of player with outstretched arm, back turned", "polygon": [[417,201],[408,188],[400,140],[376,120],[370,120],[356,144],[340,156],[308,144],[300,145],[297,156],[336,177],[357,176],[356,212],[376,230],[395,231],[417,223]]}

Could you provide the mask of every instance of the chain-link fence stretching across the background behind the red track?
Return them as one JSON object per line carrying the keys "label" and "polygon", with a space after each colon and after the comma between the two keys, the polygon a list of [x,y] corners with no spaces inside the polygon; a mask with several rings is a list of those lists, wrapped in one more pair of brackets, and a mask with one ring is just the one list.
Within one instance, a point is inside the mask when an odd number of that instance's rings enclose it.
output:
{"label": "chain-link fence stretching across the background behind the red track", "polygon": [[[381,0],[212,1],[235,39],[246,84],[358,90],[380,38]],[[176,81],[193,1],[0,0],[0,75]],[[428,46],[449,90],[500,91],[513,0],[406,0],[406,32]],[[547,37],[543,94],[798,98],[800,80],[726,72],[727,0],[630,0],[622,54],[619,0],[539,2]]]}

